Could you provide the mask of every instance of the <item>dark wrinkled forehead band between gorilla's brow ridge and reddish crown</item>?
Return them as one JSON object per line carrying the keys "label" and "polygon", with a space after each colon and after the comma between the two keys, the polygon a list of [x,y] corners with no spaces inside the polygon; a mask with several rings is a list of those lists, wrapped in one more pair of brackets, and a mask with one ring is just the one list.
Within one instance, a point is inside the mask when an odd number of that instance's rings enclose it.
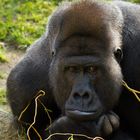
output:
{"label": "dark wrinkled forehead band between gorilla's brow ridge and reddish crown", "polygon": [[105,56],[110,50],[110,43],[98,40],[93,36],[71,36],[60,44],[60,56]]}

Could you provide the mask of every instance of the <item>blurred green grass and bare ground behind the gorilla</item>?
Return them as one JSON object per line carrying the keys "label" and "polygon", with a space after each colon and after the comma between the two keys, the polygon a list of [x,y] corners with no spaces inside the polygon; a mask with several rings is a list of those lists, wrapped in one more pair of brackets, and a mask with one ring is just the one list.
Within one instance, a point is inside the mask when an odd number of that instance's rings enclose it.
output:
{"label": "blurred green grass and bare ground behind the gorilla", "polygon": [[[0,0],[0,108],[9,110],[6,79],[26,49],[45,31],[48,16],[63,0]],[[125,0],[140,3],[140,0]]]}

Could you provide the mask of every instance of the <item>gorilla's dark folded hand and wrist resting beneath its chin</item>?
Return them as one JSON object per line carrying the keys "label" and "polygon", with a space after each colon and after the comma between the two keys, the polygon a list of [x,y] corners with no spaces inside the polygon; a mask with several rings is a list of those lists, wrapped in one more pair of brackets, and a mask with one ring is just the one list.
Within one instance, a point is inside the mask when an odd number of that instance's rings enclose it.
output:
{"label": "gorilla's dark folded hand and wrist resting beneath its chin", "polygon": [[[51,134],[73,133],[95,137],[95,136],[108,136],[118,127],[119,127],[119,117],[115,113],[109,112],[99,117],[99,119],[96,121],[90,120],[85,122],[80,121],[77,122],[67,116],[63,116],[58,120],[56,120],[49,127],[49,131]],[[66,137],[68,138],[68,136],[64,136],[64,140],[66,139]],[[53,140],[55,139],[63,140],[63,137],[54,136]],[[82,138],[80,138],[80,140],[81,139]]]}

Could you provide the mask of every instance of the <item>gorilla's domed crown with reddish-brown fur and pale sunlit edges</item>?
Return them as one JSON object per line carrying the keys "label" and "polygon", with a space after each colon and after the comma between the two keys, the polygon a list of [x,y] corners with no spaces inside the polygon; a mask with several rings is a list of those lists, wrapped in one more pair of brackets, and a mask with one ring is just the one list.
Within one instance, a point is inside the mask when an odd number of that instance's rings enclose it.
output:
{"label": "gorilla's domed crown with reddish-brown fur and pale sunlit edges", "polygon": [[[61,9],[61,10],[60,10]],[[57,48],[58,42],[63,42],[74,35],[92,36],[94,39],[120,44],[120,28],[122,18],[120,11],[109,3],[84,0],[60,6],[50,19],[48,30],[53,32],[55,43],[52,48]],[[51,25],[51,26],[50,26]],[[117,36],[113,37],[113,33]],[[113,41],[112,41],[113,40]],[[113,45],[112,45],[113,46]]]}

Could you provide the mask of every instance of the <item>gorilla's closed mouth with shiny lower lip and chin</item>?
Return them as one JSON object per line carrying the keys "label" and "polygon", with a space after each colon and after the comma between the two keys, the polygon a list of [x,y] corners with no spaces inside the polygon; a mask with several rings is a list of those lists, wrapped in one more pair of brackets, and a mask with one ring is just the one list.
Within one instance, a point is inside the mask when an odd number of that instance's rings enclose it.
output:
{"label": "gorilla's closed mouth with shiny lower lip and chin", "polygon": [[67,110],[66,115],[74,120],[79,121],[89,121],[95,120],[99,116],[100,112],[98,110],[85,112],[79,110]]}

